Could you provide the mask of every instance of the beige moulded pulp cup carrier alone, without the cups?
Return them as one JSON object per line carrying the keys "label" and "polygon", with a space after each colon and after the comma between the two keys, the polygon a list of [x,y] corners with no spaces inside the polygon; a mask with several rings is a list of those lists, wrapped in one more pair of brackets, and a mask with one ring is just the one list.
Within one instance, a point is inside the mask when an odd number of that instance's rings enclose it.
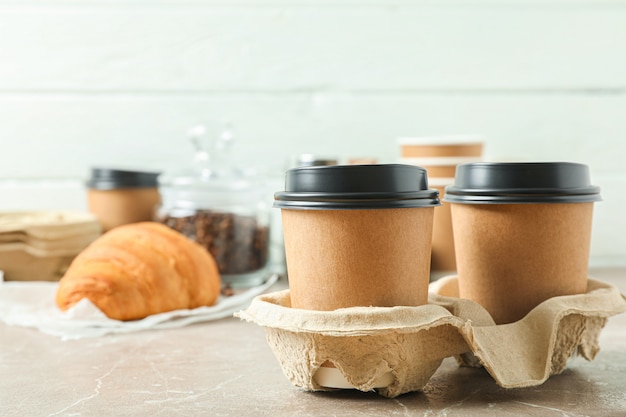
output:
{"label": "beige moulded pulp cup carrier alone, without the cups", "polygon": [[235,315],[266,328],[295,386],[328,390],[314,376],[329,361],[361,391],[391,372],[393,381],[377,392],[393,398],[422,390],[449,356],[484,366],[505,388],[540,385],[572,355],[592,360],[608,317],[626,311],[617,288],[592,279],[586,294],[554,297],[506,325],[457,295],[457,278],[447,277],[431,284],[427,305],[312,311],[291,308],[286,290],[259,296]]}

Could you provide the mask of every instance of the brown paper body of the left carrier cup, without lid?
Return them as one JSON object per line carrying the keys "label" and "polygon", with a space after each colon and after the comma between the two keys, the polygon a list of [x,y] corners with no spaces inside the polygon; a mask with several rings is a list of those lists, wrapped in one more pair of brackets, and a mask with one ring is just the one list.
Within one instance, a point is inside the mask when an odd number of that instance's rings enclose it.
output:
{"label": "brown paper body of the left carrier cup, without lid", "polygon": [[433,207],[283,209],[282,218],[295,308],[426,304]]}

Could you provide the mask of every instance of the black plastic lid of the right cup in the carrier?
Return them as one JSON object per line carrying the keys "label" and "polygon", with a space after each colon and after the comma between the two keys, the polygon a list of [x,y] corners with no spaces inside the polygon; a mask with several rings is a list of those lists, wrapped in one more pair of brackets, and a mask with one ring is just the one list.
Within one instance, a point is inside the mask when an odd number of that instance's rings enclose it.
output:
{"label": "black plastic lid of the right cup in the carrier", "polygon": [[445,202],[465,204],[600,201],[589,167],[572,162],[472,162],[458,165]]}

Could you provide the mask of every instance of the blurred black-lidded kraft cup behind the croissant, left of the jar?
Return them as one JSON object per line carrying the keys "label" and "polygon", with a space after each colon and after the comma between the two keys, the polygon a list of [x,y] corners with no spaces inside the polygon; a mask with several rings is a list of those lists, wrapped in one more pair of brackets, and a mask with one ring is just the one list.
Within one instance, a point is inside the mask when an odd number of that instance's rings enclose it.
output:
{"label": "blurred black-lidded kraft cup behind the croissant, left of the jar", "polygon": [[154,220],[161,202],[157,172],[92,168],[87,206],[103,231],[128,223]]}

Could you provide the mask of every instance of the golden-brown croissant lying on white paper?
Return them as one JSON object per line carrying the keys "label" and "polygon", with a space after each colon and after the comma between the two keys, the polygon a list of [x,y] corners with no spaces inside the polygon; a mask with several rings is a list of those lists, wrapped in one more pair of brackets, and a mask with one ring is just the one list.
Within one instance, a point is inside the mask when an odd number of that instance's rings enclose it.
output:
{"label": "golden-brown croissant lying on white paper", "polygon": [[135,320],[215,304],[221,279],[215,260],[186,236],[156,222],[118,226],[74,258],[59,281],[65,311],[88,298],[104,314]]}

